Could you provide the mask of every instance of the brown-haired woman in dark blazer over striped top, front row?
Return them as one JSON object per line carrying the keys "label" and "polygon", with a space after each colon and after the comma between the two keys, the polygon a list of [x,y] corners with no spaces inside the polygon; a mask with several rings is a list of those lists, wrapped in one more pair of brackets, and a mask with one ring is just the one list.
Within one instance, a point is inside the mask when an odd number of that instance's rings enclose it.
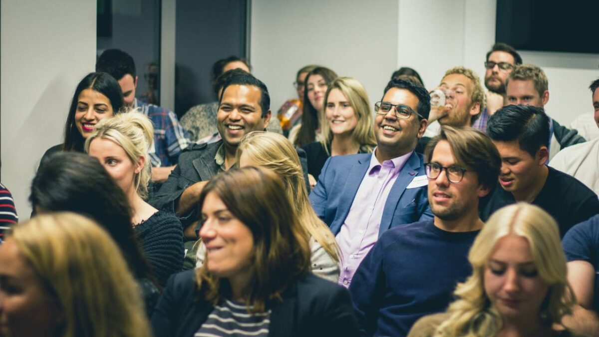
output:
{"label": "brown-haired woman in dark blazer over striped top, front row", "polygon": [[358,335],[347,291],[310,273],[304,228],[276,173],[220,173],[199,207],[204,264],[169,280],[152,316],[156,337]]}

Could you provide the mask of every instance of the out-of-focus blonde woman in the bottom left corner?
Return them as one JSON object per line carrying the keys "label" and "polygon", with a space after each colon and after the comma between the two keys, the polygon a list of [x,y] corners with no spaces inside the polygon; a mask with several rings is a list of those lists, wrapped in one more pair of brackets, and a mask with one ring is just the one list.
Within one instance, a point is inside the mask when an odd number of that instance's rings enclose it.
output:
{"label": "out-of-focus blonde woman in the bottom left corner", "polygon": [[151,336],[120,249],[92,220],[48,213],[0,246],[0,335]]}

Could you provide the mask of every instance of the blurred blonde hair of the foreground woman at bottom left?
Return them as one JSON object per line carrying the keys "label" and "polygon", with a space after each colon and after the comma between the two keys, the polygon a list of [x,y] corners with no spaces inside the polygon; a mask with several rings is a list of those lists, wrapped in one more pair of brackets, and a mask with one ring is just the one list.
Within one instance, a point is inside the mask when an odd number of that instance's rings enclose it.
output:
{"label": "blurred blonde hair of the foreground woman at bottom left", "polygon": [[49,287],[62,337],[151,336],[141,290],[120,249],[98,224],[75,213],[47,213],[8,234]]}

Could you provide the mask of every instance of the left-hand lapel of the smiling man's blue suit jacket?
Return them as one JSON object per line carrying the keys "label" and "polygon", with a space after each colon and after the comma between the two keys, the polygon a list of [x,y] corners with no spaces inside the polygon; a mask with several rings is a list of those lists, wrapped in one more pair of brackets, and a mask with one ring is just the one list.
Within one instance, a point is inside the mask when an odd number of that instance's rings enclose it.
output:
{"label": "left-hand lapel of the smiling man's blue suit jacket", "polygon": [[356,193],[358,193],[358,188],[362,183],[362,179],[364,179],[368,166],[370,166],[371,158],[372,155],[361,158],[358,160],[358,163],[353,164],[349,173],[347,173],[347,178],[343,186],[343,193],[341,194],[339,206],[337,208],[337,214],[335,215],[335,220],[331,224],[331,231],[335,235],[339,233],[341,225],[343,225],[343,222],[347,218],[349,209],[352,207],[353,199],[356,197]]}

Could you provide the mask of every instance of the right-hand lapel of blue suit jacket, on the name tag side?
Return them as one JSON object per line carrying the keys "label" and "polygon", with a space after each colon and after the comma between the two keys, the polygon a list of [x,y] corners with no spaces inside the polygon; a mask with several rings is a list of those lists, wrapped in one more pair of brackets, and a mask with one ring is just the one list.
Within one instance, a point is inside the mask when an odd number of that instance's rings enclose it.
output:
{"label": "right-hand lapel of blue suit jacket, on the name tag side", "polygon": [[385,202],[383,217],[380,219],[379,237],[391,227],[391,220],[393,219],[395,210],[397,210],[398,203],[400,203],[401,195],[404,194],[406,187],[418,174],[418,169],[420,169],[420,160],[416,152],[412,152],[412,155],[410,155],[410,158],[408,158],[408,161],[404,164],[399,176],[395,180]]}

